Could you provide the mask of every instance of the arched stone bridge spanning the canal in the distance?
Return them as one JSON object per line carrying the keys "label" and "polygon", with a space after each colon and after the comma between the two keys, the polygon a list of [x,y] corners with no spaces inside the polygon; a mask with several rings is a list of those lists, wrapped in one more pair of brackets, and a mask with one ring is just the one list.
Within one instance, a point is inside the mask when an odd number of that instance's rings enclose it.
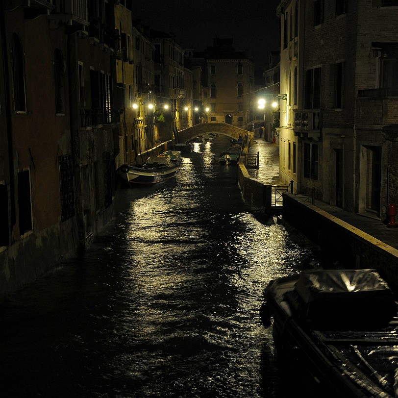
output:
{"label": "arched stone bridge spanning the canal in the distance", "polygon": [[243,139],[248,134],[248,141],[253,138],[253,132],[245,130],[244,128],[235,127],[228,123],[199,123],[192,127],[184,128],[178,131],[176,141],[177,143],[186,143],[192,141],[196,137],[205,134],[222,134],[231,137],[235,140],[241,136]]}

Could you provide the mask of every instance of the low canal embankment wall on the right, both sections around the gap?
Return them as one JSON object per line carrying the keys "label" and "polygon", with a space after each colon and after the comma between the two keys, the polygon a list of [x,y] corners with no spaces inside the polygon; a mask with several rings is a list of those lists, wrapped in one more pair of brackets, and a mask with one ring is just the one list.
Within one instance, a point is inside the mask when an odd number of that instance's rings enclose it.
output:
{"label": "low canal embankment wall on the right, both sections around the gap", "polygon": [[[273,214],[272,185],[251,178],[244,162],[238,163],[238,185],[253,213]],[[308,197],[283,194],[282,222],[294,228],[328,259],[330,266],[375,269],[398,294],[398,249],[341,220]]]}

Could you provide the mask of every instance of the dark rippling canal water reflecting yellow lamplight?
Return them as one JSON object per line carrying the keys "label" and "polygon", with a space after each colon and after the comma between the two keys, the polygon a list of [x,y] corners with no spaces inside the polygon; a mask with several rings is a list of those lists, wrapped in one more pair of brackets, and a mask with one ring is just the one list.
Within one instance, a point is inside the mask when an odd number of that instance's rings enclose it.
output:
{"label": "dark rippling canal water reflecting yellow lamplight", "polygon": [[318,260],[250,213],[237,167],[218,163],[228,146],[195,143],[175,178],[120,187],[90,249],[0,305],[1,397],[292,395],[262,292]]}

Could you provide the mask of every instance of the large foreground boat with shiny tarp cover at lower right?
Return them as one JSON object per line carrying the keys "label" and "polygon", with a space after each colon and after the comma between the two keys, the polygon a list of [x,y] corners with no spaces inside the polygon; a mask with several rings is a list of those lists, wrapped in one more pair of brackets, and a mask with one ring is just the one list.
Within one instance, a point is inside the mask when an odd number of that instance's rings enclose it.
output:
{"label": "large foreground boat with shiny tarp cover at lower right", "polygon": [[314,396],[398,397],[397,303],[375,270],[277,278],[260,315],[282,364]]}

